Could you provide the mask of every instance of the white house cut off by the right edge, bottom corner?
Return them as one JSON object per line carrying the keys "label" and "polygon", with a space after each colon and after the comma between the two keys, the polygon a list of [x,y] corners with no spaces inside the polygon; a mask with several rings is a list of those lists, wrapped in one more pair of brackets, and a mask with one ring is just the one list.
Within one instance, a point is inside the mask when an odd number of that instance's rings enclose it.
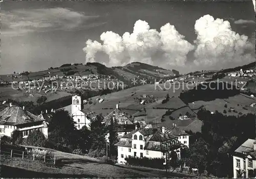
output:
{"label": "white house cut off by the right edge, bottom corner", "polygon": [[256,170],[256,140],[248,139],[233,155],[233,178],[254,177]]}

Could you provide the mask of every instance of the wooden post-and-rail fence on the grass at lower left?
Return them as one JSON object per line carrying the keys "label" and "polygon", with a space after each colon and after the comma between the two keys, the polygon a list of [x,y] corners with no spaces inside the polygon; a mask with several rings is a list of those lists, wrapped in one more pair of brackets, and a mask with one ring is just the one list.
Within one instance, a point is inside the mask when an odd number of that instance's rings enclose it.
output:
{"label": "wooden post-and-rail fence on the grass at lower left", "polygon": [[[54,165],[56,165],[56,157],[52,157],[50,155],[43,155],[43,154],[30,154],[26,150],[18,150],[18,149],[12,149],[12,148],[1,148],[1,154],[10,155],[10,157],[22,157],[22,159],[27,157],[33,157],[33,161],[36,159],[42,160],[44,159],[44,162],[46,161],[53,161]],[[38,157],[38,156],[41,156]]]}

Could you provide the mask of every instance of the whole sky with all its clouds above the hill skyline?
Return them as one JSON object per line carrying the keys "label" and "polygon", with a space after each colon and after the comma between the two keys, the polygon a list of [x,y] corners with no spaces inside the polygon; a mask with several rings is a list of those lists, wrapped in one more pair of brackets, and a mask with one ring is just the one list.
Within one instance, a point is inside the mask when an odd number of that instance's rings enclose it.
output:
{"label": "whole sky with all its clouds above the hill skyline", "polygon": [[185,73],[255,61],[251,1],[7,1],[0,15],[0,74],[134,61]]}

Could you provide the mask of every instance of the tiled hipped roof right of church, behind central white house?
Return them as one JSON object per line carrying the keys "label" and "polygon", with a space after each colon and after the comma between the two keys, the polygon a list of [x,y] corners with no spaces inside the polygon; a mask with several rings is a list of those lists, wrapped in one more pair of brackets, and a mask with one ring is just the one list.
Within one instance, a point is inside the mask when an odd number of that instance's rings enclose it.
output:
{"label": "tiled hipped roof right of church, behind central white house", "polygon": [[111,120],[113,120],[113,117],[115,117],[115,120],[117,120],[118,124],[133,124],[133,117],[120,109],[115,109],[114,111],[112,111],[103,119],[102,122],[104,122],[105,125],[110,125]]}

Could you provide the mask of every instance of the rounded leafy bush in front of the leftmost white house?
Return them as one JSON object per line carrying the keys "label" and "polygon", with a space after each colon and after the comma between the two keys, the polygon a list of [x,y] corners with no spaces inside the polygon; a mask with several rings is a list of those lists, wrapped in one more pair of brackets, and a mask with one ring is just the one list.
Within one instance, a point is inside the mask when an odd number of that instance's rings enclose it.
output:
{"label": "rounded leafy bush in front of the leftmost white house", "polygon": [[36,130],[28,135],[25,144],[36,147],[45,147],[46,137],[40,130]]}

